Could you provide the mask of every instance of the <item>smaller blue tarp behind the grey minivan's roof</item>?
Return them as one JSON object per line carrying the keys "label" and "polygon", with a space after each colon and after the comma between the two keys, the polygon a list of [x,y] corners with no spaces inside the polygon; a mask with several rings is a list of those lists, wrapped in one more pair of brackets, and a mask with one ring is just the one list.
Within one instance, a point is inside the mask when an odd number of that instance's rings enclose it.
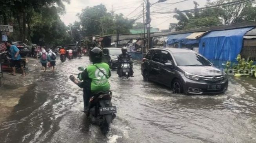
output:
{"label": "smaller blue tarp behind the grey minivan's roof", "polygon": [[185,34],[176,34],[176,35],[169,35],[167,37],[167,44],[174,44],[174,43],[181,43],[181,44],[195,44],[198,43],[199,41],[197,39],[185,39],[192,33],[185,33]]}

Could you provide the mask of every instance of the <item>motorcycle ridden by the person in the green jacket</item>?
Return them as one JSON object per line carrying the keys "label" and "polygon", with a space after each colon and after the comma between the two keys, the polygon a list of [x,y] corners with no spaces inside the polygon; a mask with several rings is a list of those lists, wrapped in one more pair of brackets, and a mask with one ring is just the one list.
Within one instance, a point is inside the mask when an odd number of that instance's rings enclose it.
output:
{"label": "motorcycle ridden by the person in the green jacket", "polygon": [[[84,68],[79,67],[78,70],[84,71]],[[104,135],[109,132],[110,124],[116,117],[116,106],[112,105],[111,98],[111,91],[103,91],[93,94],[89,100],[87,117],[91,124],[100,126]]]}

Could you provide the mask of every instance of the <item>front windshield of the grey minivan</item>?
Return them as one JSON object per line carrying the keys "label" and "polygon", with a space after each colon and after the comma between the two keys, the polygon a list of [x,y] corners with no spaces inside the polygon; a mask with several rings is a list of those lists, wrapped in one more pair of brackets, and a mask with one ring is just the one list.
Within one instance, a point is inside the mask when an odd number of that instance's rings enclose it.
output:
{"label": "front windshield of the grey minivan", "polygon": [[196,53],[173,53],[179,66],[211,66],[212,64]]}

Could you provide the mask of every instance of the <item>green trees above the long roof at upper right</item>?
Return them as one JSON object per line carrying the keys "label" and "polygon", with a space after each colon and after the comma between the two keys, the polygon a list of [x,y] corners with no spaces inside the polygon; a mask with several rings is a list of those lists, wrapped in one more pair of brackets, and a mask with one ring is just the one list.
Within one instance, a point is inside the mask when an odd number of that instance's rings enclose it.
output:
{"label": "green trees above the long roof at upper right", "polygon": [[[207,0],[206,7],[234,2],[237,0]],[[244,2],[238,5],[230,5],[219,9],[208,8],[199,12],[197,2],[194,2],[194,12],[180,12],[175,9],[176,15],[173,17],[178,20],[176,30],[199,28],[203,26],[216,26],[220,24],[238,23],[251,21],[256,18],[256,7],[254,2]]]}

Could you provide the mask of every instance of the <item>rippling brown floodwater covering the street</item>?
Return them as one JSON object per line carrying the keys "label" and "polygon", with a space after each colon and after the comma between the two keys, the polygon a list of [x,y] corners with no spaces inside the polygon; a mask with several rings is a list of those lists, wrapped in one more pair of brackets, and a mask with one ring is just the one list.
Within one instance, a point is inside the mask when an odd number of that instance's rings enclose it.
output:
{"label": "rippling brown floodwater covering the street", "polygon": [[55,73],[32,68],[27,91],[0,122],[0,143],[256,142],[254,78],[230,78],[222,95],[175,95],[143,82],[140,64],[128,81],[112,71],[112,102],[118,113],[105,137],[81,112],[82,89],[68,79],[88,64],[88,57],[82,57],[58,61]]}

